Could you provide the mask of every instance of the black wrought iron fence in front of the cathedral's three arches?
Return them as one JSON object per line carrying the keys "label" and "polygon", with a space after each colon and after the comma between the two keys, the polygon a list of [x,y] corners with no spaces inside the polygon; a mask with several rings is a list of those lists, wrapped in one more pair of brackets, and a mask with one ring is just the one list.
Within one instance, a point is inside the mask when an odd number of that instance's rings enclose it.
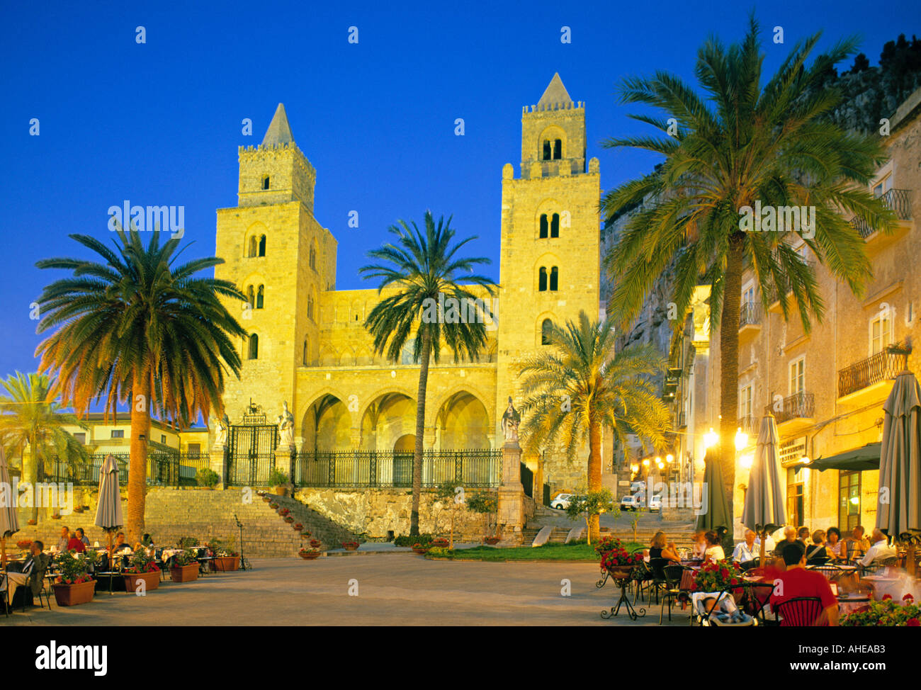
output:
{"label": "black wrought iron fence in front of the cathedral's three arches", "polygon": [[[501,483],[501,450],[426,450],[422,485],[449,481],[485,487]],[[297,486],[343,488],[411,487],[413,453],[379,450],[329,450],[297,453],[293,481]]]}

